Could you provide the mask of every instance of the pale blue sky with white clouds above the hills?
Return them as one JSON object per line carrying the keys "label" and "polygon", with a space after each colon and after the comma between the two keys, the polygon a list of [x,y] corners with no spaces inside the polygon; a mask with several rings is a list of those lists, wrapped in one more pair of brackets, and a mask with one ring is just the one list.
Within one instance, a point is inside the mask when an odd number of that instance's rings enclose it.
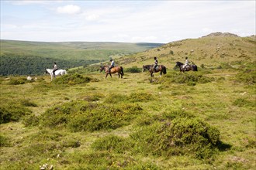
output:
{"label": "pale blue sky with white clouds above the hills", "polygon": [[1,39],[173,42],[212,32],[256,33],[256,1],[0,0]]}

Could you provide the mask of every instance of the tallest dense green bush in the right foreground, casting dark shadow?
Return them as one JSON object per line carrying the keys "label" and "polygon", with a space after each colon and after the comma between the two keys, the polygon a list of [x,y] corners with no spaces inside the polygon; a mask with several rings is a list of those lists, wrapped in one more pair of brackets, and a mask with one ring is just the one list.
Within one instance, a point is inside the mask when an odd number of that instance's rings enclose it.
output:
{"label": "tallest dense green bush in the right foreground, casting dark shadow", "polygon": [[191,155],[211,158],[220,143],[220,131],[182,112],[164,114],[161,121],[130,135],[134,151],[153,155]]}

